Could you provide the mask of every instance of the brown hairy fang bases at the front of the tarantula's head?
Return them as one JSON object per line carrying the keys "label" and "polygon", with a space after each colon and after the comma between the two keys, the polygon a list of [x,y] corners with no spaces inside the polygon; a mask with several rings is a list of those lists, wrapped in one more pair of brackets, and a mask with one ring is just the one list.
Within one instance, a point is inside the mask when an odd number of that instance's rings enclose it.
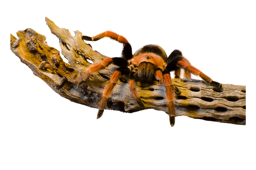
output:
{"label": "brown hairy fang bases at the front of the tarantula's head", "polygon": [[141,62],[138,66],[138,77],[141,80],[151,81],[155,78],[156,66],[153,63]]}

